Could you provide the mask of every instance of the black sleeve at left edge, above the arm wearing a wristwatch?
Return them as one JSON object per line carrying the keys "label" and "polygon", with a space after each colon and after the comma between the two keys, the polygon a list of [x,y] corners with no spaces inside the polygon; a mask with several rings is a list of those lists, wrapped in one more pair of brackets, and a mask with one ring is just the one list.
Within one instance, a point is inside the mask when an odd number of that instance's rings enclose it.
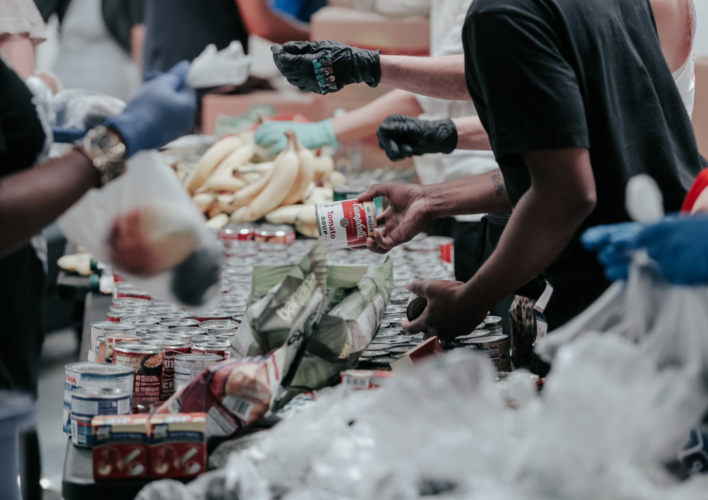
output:
{"label": "black sleeve at left edge, above the arm wearing a wristwatch", "polygon": [[0,59],[0,177],[32,166],[44,141],[30,89]]}

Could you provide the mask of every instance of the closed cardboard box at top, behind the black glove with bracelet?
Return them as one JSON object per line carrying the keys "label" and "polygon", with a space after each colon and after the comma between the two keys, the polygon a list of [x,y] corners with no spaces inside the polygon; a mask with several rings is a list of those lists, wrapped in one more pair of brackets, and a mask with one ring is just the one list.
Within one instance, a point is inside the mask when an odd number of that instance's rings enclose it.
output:
{"label": "closed cardboard box at top, behind the black glove with bracelet", "polygon": [[378,13],[324,7],[310,20],[311,40],[332,40],[382,54],[430,55],[428,18],[388,18]]}

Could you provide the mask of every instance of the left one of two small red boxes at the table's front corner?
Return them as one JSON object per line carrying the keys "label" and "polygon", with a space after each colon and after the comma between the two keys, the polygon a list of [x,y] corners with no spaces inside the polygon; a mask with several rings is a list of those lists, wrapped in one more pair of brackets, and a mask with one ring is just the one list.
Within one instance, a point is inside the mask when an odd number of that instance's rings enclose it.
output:
{"label": "left one of two small red boxes at the table's front corner", "polygon": [[148,477],[147,414],[93,417],[93,479]]}

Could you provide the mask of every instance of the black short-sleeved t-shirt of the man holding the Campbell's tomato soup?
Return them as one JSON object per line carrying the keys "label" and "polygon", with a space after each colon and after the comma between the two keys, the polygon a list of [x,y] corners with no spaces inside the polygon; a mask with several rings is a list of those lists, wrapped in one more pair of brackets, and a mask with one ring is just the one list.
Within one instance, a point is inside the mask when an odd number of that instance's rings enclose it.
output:
{"label": "black short-sleeved t-shirt of the man holding the Campbell's tomato soup", "polygon": [[513,204],[530,187],[522,153],[590,150],[597,206],[546,271],[558,327],[609,285],[578,238],[629,221],[629,178],[651,175],[666,211],[680,209],[702,165],[690,118],[649,0],[475,0],[462,40],[469,93]]}

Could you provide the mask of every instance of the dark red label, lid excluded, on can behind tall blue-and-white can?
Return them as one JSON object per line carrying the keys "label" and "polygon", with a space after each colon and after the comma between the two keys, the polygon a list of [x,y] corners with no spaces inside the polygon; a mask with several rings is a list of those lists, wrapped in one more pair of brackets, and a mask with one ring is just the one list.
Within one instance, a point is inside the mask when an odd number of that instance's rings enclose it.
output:
{"label": "dark red label, lid excluded, on can behind tall blue-and-white can", "polygon": [[133,377],[133,412],[137,412],[139,404],[160,400],[162,389],[162,369],[164,351],[157,353],[129,351],[127,349],[113,352],[113,363],[130,366]]}

